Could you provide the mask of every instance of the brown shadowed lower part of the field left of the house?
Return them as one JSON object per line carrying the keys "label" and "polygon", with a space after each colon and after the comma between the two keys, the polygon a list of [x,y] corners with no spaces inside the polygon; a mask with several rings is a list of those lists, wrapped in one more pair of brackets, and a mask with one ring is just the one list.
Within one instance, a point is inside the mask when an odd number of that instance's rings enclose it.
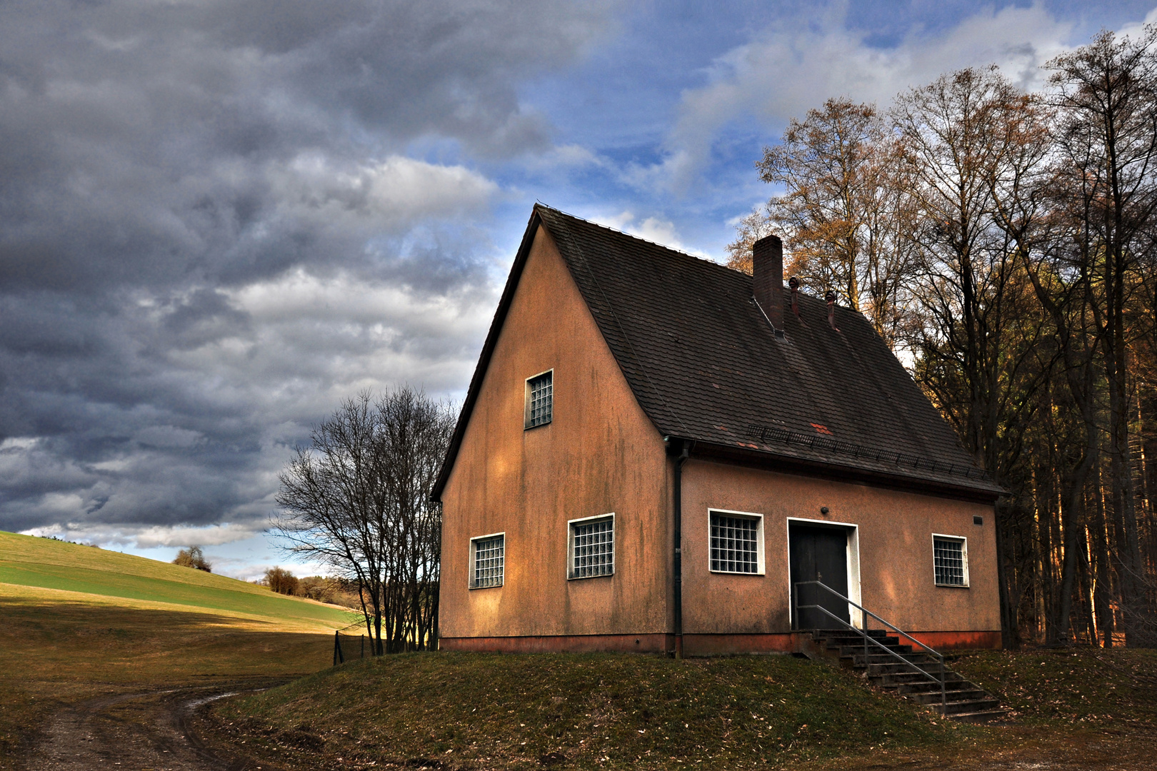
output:
{"label": "brown shadowed lower part of the field left of the house", "polygon": [[64,705],[105,694],[305,675],[333,636],[277,620],[0,596],[0,770]]}

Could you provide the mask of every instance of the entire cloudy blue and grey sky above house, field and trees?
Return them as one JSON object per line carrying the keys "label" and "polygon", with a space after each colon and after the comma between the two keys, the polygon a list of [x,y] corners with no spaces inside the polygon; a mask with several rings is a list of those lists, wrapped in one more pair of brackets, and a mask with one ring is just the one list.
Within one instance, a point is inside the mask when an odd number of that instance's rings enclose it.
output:
{"label": "entire cloudy blue and grey sky above house, field and trees", "polygon": [[1145,2],[0,3],[0,529],[299,574],[278,473],[363,388],[460,403],[533,202],[722,259],[826,98]]}

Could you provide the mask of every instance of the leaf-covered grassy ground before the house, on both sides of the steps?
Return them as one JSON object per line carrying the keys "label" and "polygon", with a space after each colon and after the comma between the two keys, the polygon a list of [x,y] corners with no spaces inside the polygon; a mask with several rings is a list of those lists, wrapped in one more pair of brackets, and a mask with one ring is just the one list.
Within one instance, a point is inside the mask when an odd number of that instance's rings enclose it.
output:
{"label": "leaf-covered grassy ground before the house, on both sides of the steps", "polygon": [[1157,651],[985,651],[955,666],[1012,725],[945,722],[791,657],[417,653],[222,702],[263,768],[443,771],[1152,769]]}

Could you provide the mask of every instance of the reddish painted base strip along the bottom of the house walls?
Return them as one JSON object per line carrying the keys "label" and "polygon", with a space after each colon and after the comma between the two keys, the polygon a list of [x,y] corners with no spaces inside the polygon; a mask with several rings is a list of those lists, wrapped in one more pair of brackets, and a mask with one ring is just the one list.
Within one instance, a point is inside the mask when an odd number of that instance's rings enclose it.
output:
{"label": "reddish painted base strip along the bottom of the house walls", "polygon": [[[1001,633],[909,632],[937,651],[1000,650]],[[684,655],[739,653],[797,653],[811,642],[811,632],[771,635],[684,635]],[[543,635],[537,637],[443,637],[443,651],[476,653],[666,653],[675,651],[673,635]]]}

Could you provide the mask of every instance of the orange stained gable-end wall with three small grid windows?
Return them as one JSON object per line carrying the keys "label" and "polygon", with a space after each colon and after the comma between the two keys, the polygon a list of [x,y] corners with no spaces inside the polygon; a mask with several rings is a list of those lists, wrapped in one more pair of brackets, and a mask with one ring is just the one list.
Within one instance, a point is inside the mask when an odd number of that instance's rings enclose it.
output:
{"label": "orange stained gable-end wall with three small grid windows", "polygon": [[[553,420],[524,424],[553,369]],[[666,460],[551,236],[535,235],[443,501],[443,638],[668,631]],[[614,574],[567,579],[567,520],[614,512]],[[470,539],[506,533],[504,585],[469,588]]]}

